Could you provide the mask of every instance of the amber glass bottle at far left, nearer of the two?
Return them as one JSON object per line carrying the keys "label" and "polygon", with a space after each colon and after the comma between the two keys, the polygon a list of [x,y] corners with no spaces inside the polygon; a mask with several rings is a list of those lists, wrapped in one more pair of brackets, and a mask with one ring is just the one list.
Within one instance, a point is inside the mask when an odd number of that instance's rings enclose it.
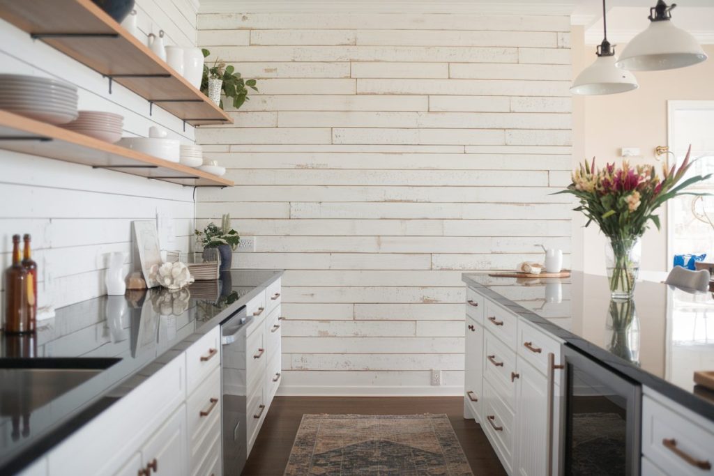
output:
{"label": "amber glass bottle at far left, nearer of the two", "polygon": [[12,237],[12,265],[5,270],[5,324],[9,334],[30,332],[27,305],[27,270],[22,267],[20,236]]}

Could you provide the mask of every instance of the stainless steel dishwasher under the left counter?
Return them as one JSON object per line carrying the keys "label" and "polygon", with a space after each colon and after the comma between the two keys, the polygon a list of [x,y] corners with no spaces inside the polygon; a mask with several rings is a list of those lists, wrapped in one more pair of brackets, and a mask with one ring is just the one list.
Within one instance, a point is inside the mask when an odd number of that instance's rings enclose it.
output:
{"label": "stainless steel dishwasher under the left counter", "polygon": [[223,475],[238,476],[246,465],[246,306],[221,323]]}

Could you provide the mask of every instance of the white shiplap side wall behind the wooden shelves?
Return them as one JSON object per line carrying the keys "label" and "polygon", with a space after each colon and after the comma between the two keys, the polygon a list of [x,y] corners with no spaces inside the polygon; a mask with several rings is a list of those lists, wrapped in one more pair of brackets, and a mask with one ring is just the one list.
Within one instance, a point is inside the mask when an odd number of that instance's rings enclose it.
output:
{"label": "white shiplap side wall behind the wooden shelves", "polygon": [[[193,1],[138,0],[136,9],[143,38],[164,29],[166,44],[196,45]],[[156,107],[149,117],[147,101],[116,83],[109,95],[101,74],[4,21],[0,73],[74,83],[79,108],[122,114],[125,136],[147,136],[149,126],[160,125],[193,142],[193,128],[184,132],[178,118]],[[193,231],[193,188],[1,150],[0,196],[0,267],[10,264],[12,235],[31,233],[40,305],[60,307],[106,293],[105,253],[129,253],[133,220],[153,220],[157,212],[174,219],[175,249],[188,250]]]}

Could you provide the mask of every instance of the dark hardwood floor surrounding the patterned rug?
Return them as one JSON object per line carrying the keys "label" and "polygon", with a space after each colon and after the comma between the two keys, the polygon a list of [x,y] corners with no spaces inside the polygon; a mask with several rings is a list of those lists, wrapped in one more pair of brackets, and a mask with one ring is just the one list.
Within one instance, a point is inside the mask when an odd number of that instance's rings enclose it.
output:
{"label": "dark hardwood floor surrounding the patterned rug", "polygon": [[[506,475],[486,435],[463,419],[461,397],[276,397],[263,422],[243,476],[282,475],[305,413],[418,415],[446,413],[473,474]],[[232,476],[232,475],[226,475]]]}

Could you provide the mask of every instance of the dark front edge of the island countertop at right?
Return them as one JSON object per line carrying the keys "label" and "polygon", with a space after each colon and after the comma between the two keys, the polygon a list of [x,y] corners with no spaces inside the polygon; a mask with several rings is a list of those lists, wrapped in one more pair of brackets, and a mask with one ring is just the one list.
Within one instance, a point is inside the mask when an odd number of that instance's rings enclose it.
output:
{"label": "dark front edge of the island countertop at right", "polygon": [[538,327],[542,328],[551,335],[555,335],[555,337],[560,338],[560,340],[563,340],[569,347],[579,350],[588,357],[602,363],[605,367],[615,370],[615,372],[625,375],[625,377],[630,378],[630,380],[634,380],[635,382],[640,383],[640,385],[645,385],[652,390],[665,395],[670,398],[670,400],[673,400],[680,405],[683,405],[683,407],[686,407],[698,415],[714,422],[714,402],[705,400],[703,397],[699,397],[698,395],[688,392],[677,385],[669,383],[666,380],[663,380],[662,378],[659,378],[656,375],[633,365],[627,360],[609,353],[607,350],[598,347],[598,345],[590,343],[588,340],[570,333],[568,330],[561,328],[559,325],[541,318],[538,314],[533,313],[532,310],[523,308],[523,306],[518,303],[514,303],[512,300],[503,297],[503,295],[496,293],[494,290],[491,290],[491,288],[488,288],[487,286],[471,279],[467,273],[463,273],[463,275],[461,275],[461,280],[470,288],[478,291],[481,295],[495,301],[504,308],[508,308],[521,318],[528,320],[528,322],[538,325]]}

